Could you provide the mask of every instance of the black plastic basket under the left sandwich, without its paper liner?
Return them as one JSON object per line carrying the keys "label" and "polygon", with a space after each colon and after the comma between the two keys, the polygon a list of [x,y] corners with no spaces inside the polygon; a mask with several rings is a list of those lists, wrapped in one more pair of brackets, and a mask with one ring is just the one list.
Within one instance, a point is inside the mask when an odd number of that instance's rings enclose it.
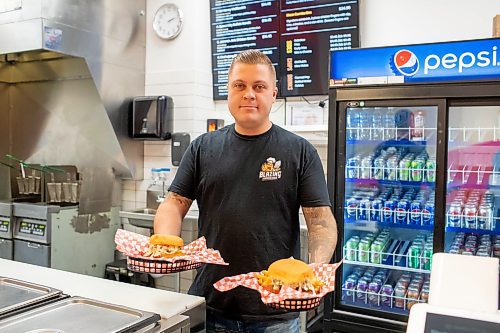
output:
{"label": "black plastic basket under the left sandwich, without its paper liner", "polygon": [[189,260],[170,262],[165,260],[127,257],[127,268],[139,273],[170,274],[196,269],[200,266],[201,263]]}

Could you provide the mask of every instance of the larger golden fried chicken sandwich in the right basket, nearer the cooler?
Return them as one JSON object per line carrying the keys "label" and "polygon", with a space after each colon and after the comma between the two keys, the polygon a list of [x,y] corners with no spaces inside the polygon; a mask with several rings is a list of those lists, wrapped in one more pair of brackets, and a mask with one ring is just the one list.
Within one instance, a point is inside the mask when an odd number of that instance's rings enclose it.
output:
{"label": "larger golden fried chicken sandwich in the right basket, nearer the cooler", "polygon": [[288,286],[315,295],[324,284],[311,267],[293,258],[273,262],[267,270],[257,274],[257,278],[262,287],[274,293],[279,293],[282,287]]}

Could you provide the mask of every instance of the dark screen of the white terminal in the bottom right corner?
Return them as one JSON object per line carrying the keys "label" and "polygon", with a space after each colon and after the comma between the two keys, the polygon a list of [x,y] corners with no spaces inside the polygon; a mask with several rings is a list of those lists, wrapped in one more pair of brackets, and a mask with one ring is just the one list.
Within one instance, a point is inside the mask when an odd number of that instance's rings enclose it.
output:
{"label": "dark screen of the white terminal in the bottom right corner", "polygon": [[498,333],[500,324],[428,313],[424,333]]}

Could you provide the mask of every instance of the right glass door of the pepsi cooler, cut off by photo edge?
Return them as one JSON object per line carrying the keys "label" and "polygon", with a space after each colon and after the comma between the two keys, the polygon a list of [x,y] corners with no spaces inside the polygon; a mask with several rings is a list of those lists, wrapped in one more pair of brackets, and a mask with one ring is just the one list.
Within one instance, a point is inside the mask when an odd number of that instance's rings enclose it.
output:
{"label": "right glass door of the pepsi cooler, cut off by photo edge", "polygon": [[500,101],[450,105],[445,252],[500,257]]}

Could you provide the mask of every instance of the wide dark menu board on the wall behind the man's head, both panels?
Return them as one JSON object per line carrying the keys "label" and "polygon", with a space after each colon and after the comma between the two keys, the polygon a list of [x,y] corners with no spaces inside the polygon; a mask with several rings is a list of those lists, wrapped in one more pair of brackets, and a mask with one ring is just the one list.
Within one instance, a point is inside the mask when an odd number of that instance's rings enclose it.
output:
{"label": "wide dark menu board on the wall behind the man's head, both panels", "polygon": [[278,95],[328,93],[330,50],[359,46],[358,0],[210,0],[214,99],[227,98],[234,56],[261,50],[276,66]]}

